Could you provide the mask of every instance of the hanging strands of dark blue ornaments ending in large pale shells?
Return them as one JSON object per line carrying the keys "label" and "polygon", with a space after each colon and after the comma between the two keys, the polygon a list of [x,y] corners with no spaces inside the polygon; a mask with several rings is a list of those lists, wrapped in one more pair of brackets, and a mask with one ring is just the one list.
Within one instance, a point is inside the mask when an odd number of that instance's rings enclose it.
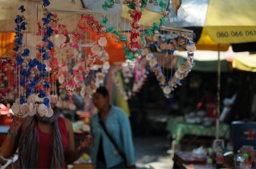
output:
{"label": "hanging strands of dark blue ornaments ending in large pale shells", "polygon": [[[40,35],[42,43],[37,45],[37,58],[29,57],[29,49],[23,49],[23,33],[26,30],[27,23],[24,16],[17,15],[15,23],[17,27],[14,42],[16,47],[13,49],[17,62],[17,81],[19,82],[17,89],[17,98],[19,101],[11,107],[14,115],[18,117],[33,116],[38,113],[40,116],[51,117],[53,110],[50,106],[50,50],[53,43],[50,40],[53,29],[50,24],[53,14],[48,12],[47,6],[49,1],[43,0],[43,11],[45,17],[42,18],[40,27]],[[26,11],[24,6],[19,7],[22,12]],[[26,42],[25,42],[26,43]],[[26,44],[25,44],[26,45]],[[23,50],[22,50],[23,49]],[[40,62],[41,60],[41,62]]]}

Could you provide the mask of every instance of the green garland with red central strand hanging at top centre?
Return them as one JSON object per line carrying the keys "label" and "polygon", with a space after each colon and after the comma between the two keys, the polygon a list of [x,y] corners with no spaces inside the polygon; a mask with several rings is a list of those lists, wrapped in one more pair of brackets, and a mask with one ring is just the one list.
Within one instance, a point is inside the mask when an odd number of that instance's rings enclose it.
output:
{"label": "green garland with red central strand hanging at top centre", "polygon": [[[142,16],[142,12],[145,10],[147,6],[148,0],[125,0],[124,4],[130,9],[130,17],[132,19],[131,22],[131,37],[130,37],[130,47],[125,48],[125,56],[126,59],[130,60],[129,65],[131,64],[130,68],[134,67],[134,62],[136,59],[140,58],[141,52],[142,52],[142,45],[139,44],[139,38],[142,40],[144,44],[146,44],[146,40],[144,38],[145,35],[152,35],[152,30],[147,29],[146,32],[140,34],[140,19]],[[153,3],[155,6],[160,6],[162,10],[162,14],[164,17],[160,18],[161,25],[163,25],[166,22],[166,16],[169,14],[168,11],[165,11],[167,8],[167,4],[163,0],[149,0],[149,3]],[[113,8],[115,4],[120,4],[120,1],[114,1],[114,0],[107,0],[104,4],[102,4],[102,8],[107,11],[108,8]],[[107,27],[107,22],[109,19],[106,17],[106,14],[104,14],[103,19],[101,21],[102,25]],[[164,27],[161,27],[164,28]],[[154,23],[154,33],[157,34],[158,30],[160,29],[160,26],[156,23]],[[121,33],[118,30],[115,30],[114,27],[107,28],[108,33],[114,33],[116,39],[116,42],[127,42],[127,38],[125,35],[121,35]]]}

